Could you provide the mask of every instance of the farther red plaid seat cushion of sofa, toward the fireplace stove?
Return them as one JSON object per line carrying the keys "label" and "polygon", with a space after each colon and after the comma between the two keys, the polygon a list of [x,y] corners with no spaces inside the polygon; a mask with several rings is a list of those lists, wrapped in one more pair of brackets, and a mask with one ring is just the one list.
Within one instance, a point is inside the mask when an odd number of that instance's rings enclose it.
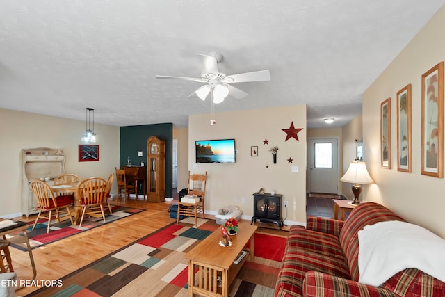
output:
{"label": "farther red plaid seat cushion of sofa, toward the fireplace stove", "polygon": [[345,259],[345,254],[341,249],[337,236],[325,234],[304,228],[291,227],[287,239],[289,248],[302,248],[309,252],[320,253],[321,255],[329,255],[330,257],[338,257]]}

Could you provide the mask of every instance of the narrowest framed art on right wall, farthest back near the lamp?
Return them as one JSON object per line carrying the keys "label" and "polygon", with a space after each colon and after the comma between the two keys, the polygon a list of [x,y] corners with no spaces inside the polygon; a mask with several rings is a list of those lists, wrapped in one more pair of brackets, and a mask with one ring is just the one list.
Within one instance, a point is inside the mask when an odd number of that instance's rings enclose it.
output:
{"label": "narrowest framed art on right wall, farthest back near the lamp", "polygon": [[380,156],[382,168],[391,169],[391,98],[380,104]]}

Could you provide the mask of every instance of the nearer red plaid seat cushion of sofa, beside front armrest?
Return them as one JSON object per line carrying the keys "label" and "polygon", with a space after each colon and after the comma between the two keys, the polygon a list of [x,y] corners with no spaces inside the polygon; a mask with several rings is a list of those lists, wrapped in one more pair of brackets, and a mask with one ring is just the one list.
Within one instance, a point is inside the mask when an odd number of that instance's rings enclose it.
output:
{"label": "nearer red plaid seat cushion of sofa, beside front armrest", "polygon": [[301,295],[307,271],[319,271],[341,278],[350,278],[348,265],[344,259],[288,246],[278,274],[275,296],[286,296],[288,293],[284,292]]}

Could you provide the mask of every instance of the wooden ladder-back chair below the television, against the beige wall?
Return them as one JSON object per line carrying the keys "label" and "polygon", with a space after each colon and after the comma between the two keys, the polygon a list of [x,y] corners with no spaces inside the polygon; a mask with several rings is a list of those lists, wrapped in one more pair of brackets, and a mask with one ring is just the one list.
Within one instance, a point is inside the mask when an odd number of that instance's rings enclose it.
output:
{"label": "wooden ladder-back chair below the television, against the beige wall", "polygon": [[202,218],[206,218],[204,213],[205,195],[207,184],[207,171],[204,175],[191,175],[188,172],[188,193],[187,195],[197,195],[200,198],[195,203],[178,202],[177,223],[179,223],[180,216],[195,216],[195,225],[197,224],[197,214],[202,213]]}

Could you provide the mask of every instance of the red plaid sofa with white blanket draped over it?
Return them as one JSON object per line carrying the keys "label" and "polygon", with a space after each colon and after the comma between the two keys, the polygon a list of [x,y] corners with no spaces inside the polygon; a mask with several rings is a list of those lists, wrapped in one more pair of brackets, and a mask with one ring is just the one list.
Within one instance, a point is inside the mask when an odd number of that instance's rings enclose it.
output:
{"label": "red plaid sofa with white blanket draped over it", "polygon": [[415,268],[380,287],[359,280],[357,232],[365,225],[402,220],[374,202],[359,204],[346,220],[309,216],[307,226],[291,226],[275,296],[445,296],[445,284]]}

